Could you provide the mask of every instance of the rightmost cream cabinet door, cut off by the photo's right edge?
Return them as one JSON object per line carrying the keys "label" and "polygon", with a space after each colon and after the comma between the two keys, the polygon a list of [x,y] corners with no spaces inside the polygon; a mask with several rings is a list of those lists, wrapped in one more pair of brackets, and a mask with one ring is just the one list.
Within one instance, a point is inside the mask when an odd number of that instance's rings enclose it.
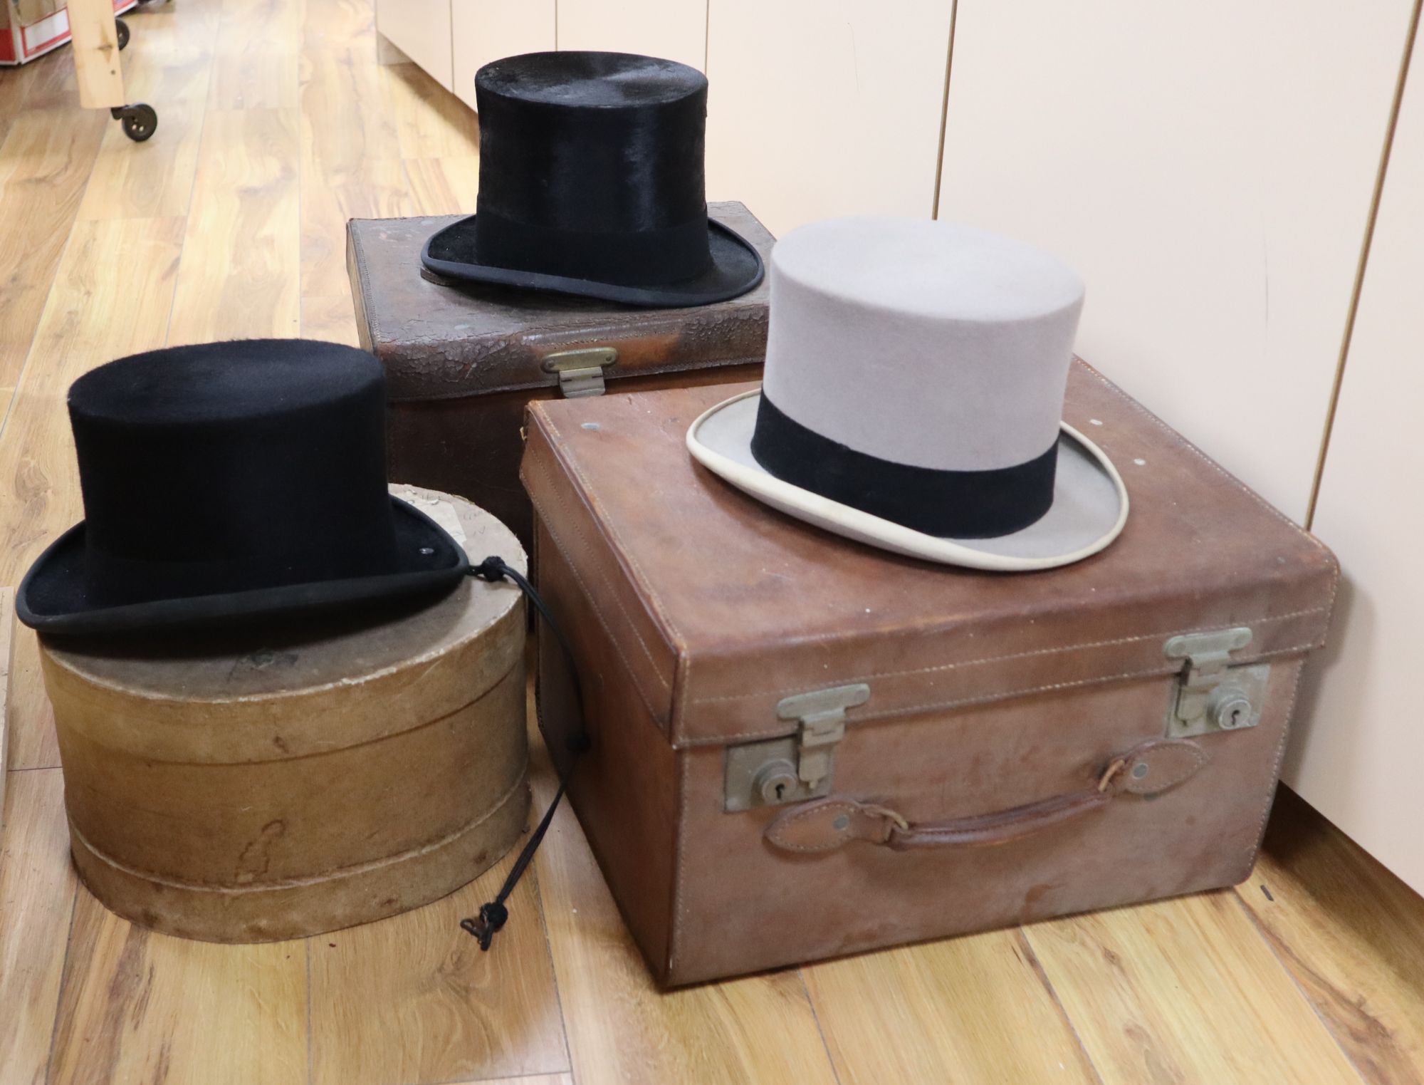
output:
{"label": "rightmost cream cabinet door, cut off by the photo's right edge", "polygon": [[1384,175],[1314,531],[1343,574],[1286,780],[1424,893],[1424,40]]}

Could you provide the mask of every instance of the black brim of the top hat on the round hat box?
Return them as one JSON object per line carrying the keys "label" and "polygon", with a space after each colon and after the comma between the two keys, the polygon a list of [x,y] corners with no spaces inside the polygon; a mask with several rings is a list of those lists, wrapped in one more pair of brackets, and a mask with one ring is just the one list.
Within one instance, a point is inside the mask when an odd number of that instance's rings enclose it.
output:
{"label": "black brim of the top hat on the round hat box", "polygon": [[[30,568],[16,592],[16,614],[41,634],[90,635],[198,629],[249,618],[316,614],[453,589],[470,561],[450,534],[419,508],[390,498],[397,567],[347,580],[157,598],[121,607],[93,605],[84,584],[84,523],[60,535]],[[422,554],[430,548],[430,554]]]}

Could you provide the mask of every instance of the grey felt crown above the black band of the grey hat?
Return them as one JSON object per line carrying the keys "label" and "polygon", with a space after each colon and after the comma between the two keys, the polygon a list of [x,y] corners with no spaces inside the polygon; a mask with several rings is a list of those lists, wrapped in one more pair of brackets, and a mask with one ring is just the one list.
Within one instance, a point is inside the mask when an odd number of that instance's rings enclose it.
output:
{"label": "grey felt crown above the black band of the grey hat", "polygon": [[1058,439],[1084,286],[1057,258],[971,226],[843,218],[770,259],[765,392],[856,451],[981,471]]}

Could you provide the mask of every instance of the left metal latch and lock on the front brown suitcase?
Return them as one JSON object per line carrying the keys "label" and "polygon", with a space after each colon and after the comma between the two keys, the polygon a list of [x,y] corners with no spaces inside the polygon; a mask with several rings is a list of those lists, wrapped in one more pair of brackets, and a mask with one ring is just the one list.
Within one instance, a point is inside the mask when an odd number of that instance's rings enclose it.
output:
{"label": "left metal latch and lock on the front brown suitcase", "polygon": [[750,810],[827,795],[836,743],[846,735],[846,709],[869,699],[864,682],[783,698],[778,718],[800,726],[785,738],[728,746],[722,809]]}

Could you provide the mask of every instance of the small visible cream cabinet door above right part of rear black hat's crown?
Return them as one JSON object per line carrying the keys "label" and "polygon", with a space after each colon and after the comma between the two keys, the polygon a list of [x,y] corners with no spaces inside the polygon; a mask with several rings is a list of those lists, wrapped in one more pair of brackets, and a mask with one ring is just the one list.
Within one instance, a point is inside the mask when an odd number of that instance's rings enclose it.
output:
{"label": "small visible cream cabinet door above right part of rear black hat's crown", "polygon": [[702,71],[708,0],[558,0],[558,47],[642,53]]}

